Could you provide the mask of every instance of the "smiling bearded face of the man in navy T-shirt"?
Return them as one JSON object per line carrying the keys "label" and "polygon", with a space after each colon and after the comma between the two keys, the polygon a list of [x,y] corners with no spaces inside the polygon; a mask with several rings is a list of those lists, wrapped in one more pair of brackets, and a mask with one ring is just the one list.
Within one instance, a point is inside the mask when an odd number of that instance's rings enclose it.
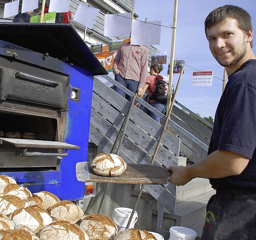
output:
{"label": "smiling bearded face of the man in navy T-shirt", "polygon": [[214,58],[221,66],[238,64],[247,52],[246,34],[235,19],[227,19],[207,29],[207,39]]}

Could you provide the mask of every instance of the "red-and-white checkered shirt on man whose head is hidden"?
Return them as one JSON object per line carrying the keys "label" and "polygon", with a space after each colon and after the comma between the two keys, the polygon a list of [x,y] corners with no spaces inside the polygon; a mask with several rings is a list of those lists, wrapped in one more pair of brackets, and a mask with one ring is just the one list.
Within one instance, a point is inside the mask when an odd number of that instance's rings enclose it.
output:
{"label": "red-and-white checkered shirt on man whose head is hidden", "polygon": [[123,78],[137,81],[138,87],[144,88],[148,76],[148,48],[122,43],[114,59],[113,70],[116,68]]}

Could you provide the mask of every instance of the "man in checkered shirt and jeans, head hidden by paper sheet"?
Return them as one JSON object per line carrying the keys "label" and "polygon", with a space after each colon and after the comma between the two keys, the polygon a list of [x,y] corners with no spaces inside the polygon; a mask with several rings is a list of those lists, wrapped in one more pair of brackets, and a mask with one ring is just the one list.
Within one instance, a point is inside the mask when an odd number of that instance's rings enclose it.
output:
{"label": "man in checkered shirt and jeans, head hidden by paper sheet", "polygon": [[[144,45],[122,43],[114,59],[115,80],[133,93],[142,95],[148,76],[148,48]],[[116,87],[116,92],[124,97],[124,92]],[[132,97],[127,96],[132,101]]]}

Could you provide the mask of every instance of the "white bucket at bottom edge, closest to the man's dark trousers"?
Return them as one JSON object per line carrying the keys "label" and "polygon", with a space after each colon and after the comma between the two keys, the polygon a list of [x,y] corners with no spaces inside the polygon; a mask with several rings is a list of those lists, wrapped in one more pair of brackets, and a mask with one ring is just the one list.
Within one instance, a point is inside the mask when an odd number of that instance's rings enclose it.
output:
{"label": "white bucket at bottom edge, closest to the man's dark trousers", "polygon": [[195,240],[196,236],[196,231],[190,228],[174,226],[170,228],[169,240]]}

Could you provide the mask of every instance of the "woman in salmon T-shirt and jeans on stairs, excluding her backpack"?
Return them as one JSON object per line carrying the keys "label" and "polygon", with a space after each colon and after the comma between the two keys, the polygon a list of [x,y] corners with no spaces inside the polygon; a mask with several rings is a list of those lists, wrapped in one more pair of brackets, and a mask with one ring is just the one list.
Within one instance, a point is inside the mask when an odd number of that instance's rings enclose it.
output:
{"label": "woman in salmon T-shirt and jeans on stairs, excluding her backpack", "polygon": [[[156,108],[159,112],[165,113],[167,108],[167,102],[166,103],[158,102],[154,99],[154,96],[153,96],[155,92],[156,80],[160,77],[158,74],[163,69],[164,69],[163,65],[152,64],[150,66],[150,71],[149,71],[150,76],[146,78],[145,87],[142,91],[142,95],[140,96],[140,98],[142,98],[146,90],[148,90],[148,94],[149,94],[148,103],[152,107]],[[149,115],[154,120],[156,120],[156,122],[160,123],[160,117],[158,117],[156,114],[154,114],[153,112],[150,112]]]}

